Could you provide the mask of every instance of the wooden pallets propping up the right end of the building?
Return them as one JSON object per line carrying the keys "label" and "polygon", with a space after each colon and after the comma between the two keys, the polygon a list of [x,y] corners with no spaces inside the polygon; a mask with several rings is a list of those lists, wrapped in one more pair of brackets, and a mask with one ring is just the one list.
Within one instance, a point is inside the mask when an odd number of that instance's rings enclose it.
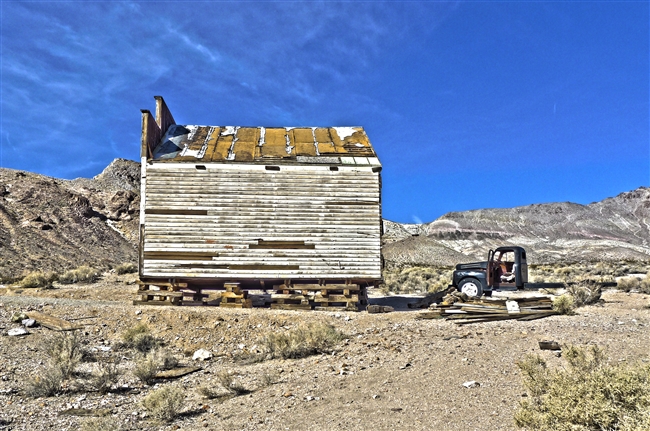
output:
{"label": "wooden pallets propping up the right end of the building", "polygon": [[357,284],[276,285],[271,308],[282,310],[358,311],[366,290]]}

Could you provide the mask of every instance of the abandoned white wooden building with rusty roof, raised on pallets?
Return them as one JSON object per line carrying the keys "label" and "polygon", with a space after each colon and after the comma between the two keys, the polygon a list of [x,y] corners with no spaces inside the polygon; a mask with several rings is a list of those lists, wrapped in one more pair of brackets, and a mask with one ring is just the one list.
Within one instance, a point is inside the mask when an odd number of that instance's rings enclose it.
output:
{"label": "abandoned white wooden building with rusty roof, raised on pallets", "polygon": [[254,289],[274,308],[357,309],[382,269],[381,164],[363,128],[179,125],[155,99],[140,301],[250,307]]}

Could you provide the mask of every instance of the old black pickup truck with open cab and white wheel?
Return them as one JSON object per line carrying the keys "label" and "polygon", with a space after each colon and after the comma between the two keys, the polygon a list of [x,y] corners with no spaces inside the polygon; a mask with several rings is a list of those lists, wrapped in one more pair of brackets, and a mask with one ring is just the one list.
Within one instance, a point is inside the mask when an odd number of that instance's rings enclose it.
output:
{"label": "old black pickup truck with open cab and white wheel", "polygon": [[498,290],[558,288],[564,284],[529,283],[526,250],[512,246],[490,250],[487,261],[456,265],[452,286],[467,296],[480,297]]}

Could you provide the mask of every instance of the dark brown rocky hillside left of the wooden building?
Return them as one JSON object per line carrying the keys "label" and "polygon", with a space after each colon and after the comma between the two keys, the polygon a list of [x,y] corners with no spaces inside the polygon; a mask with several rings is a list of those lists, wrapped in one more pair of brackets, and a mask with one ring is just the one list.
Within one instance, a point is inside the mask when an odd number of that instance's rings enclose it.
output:
{"label": "dark brown rocky hillside left of the wooden building", "polygon": [[117,159],[72,181],[0,169],[0,280],[135,261],[139,169]]}

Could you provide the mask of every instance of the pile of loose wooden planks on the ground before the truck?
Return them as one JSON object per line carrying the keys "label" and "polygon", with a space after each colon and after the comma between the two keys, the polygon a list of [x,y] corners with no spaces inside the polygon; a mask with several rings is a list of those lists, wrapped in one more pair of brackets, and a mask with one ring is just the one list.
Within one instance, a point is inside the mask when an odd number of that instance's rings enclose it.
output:
{"label": "pile of loose wooden planks on the ground before the truck", "polygon": [[497,320],[535,320],[559,314],[548,297],[443,301],[420,313],[420,319],[445,318],[459,325]]}

